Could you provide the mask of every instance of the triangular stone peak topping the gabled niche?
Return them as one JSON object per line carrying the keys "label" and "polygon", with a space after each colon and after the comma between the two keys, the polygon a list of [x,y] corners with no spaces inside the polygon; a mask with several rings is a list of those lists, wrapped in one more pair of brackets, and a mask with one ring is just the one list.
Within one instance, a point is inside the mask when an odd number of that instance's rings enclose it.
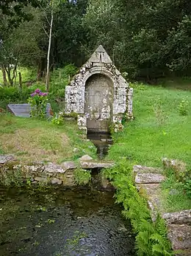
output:
{"label": "triangular stone peak topping the gabled niche", "polygon": [[102,45],[98,46],[97,49],[95,49],[95,52],[93,52],[93,55],[88,60],[88,62],[93,63],[112,63],[112,60],[110,59],[109,55],[107,54],[106,50]]}

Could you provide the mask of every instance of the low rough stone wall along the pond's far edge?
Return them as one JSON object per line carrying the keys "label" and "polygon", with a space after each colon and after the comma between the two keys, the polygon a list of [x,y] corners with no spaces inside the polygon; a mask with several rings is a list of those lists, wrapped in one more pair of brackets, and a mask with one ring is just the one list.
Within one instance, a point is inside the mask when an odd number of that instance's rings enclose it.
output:
{"label": "low rough stone wall along the pond's far edge", "polygon": [[[90,156],[82,156],[78,164],[76,162],[68,161],[57,165],[52,162],[19,162],[12,155],[0,155],[0,183],[13,183],[19,181],[32,184],[58,184],[65,187],[76,186],[74,171],[77,168],[94,169],[94,168],[110,168],[113,167],[114,162],[97,162]],[[6,181],[7,179],[7,181]],[[10,180],[10,181],[9,181]]]}

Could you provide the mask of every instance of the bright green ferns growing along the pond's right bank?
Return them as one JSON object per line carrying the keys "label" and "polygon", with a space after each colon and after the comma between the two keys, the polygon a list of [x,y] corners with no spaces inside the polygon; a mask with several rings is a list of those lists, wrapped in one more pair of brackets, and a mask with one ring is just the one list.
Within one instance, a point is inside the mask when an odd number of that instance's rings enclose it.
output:
{"label": "bright green ferns growing along the pond's right bank", "polygon": [[104,170],[103,175],[116,187],[116,202],[123,204],[123,215],[130,219],[137,234],[137,255],[173,255],[167,239],[165,221],[158,216],[153,223],[146,199],[140,196],[134,186],[132,165],[126,160],[120,161],[112,169]]}

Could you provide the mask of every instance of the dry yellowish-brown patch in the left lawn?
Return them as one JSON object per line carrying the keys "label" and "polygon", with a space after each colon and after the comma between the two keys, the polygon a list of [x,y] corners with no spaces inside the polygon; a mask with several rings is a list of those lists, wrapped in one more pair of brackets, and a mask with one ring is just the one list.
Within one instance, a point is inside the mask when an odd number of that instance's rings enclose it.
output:
{"label": "dry yellowish-brown patch in the left lawn", "polygon": [[23,161],[58,162],[72,154],[70,140],[65,134],[51,129],[19,129],[14,134],[1,134],[1,148],[14,153]]}

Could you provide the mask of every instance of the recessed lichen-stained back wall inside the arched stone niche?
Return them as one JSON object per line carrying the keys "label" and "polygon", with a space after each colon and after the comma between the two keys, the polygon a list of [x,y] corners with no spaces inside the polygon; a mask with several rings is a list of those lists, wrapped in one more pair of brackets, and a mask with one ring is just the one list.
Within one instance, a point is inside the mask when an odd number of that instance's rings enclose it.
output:
{"label": "recessed lichen-stained back wall inside the arched stone niche", "polygon": [[87,131],[109,132],[112,122],[114,84],[108,75],[94,73],[86,79],[84,112],[87,117]]}

